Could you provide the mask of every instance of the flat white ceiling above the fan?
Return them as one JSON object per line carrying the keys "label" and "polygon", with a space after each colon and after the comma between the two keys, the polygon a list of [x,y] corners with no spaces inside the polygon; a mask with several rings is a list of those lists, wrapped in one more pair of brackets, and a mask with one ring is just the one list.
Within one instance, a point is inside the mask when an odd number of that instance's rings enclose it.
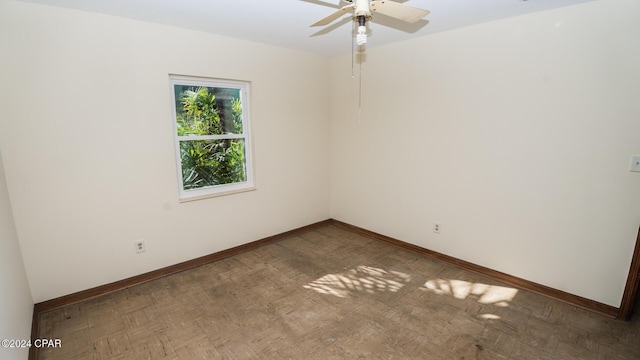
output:
{"label": "flat white ceiling above the fan", "polygon": [[[344,3],[339,0],[21,0],[190,28],[302,51],[351,51],[352,23],[309,25]],[[435,32],[594,0],[396,0],[431,11],[413,25],[375,15],[368,47]]]}

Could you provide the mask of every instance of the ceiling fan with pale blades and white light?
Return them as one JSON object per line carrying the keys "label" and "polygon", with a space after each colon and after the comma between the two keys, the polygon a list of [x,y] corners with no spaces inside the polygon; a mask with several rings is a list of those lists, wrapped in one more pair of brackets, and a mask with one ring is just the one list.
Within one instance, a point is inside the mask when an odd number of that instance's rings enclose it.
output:
{"label": "ceiling fan with pale blades and white light", "polygon": [[344,14],[352,13],[353,21],[358,24],[356,43],[364,45],[367,43],[367,21],[371,20],[373,13],[380,13],[388,17],[415,23],[429,14],[429,10],[424,10],[412,6],[403,5],[391,0],[342,0],[349,3],[331,15],[316,21],[311,26],[329,25]]}

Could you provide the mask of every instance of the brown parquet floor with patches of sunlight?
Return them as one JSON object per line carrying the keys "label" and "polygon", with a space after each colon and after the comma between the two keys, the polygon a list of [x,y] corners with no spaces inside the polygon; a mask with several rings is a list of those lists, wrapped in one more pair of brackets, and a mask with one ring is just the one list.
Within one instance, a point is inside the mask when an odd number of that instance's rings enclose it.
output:
{"label": "brown parquet floor with patches of sunlight", "polygon": [[640,359],[607,319],[322,227],[41,315],[39,359]]}

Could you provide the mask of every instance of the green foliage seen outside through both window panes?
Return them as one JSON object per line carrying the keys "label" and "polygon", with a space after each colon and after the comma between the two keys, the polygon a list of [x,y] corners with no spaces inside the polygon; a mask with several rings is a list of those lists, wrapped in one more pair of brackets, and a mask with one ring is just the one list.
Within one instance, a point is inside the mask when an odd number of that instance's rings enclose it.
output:
{"label": "green foliage seen outside through both window panes", "polygon": [[244,139],[199,139],[242,134],[238,89],[176,85],[176,122],[185,190],[246,181]]}

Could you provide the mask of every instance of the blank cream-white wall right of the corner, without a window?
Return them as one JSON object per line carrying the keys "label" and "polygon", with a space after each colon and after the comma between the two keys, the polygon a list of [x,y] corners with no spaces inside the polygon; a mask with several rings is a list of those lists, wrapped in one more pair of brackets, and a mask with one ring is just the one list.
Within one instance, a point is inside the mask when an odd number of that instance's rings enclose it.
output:
{"label": "blank cream-white wall right of the corner, without a window", "polygon": [[350,58],[332,59],[332,217],[619,306],[638,18],[601,0],[370,48],[359,119]]}

